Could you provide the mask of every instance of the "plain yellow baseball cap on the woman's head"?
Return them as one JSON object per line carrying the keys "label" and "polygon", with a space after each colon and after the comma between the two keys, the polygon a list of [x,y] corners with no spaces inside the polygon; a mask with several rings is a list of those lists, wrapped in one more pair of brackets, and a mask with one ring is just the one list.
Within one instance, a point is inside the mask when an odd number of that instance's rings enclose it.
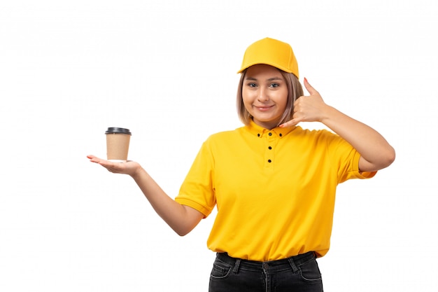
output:
{"label": "plain yellow baseball cap on the woman's head", "polygon": [[265,38],[250,45],[245,51],[242,67],[237,73],[256,64],[271,65],[299,78],[297,59],[292,47],[283,41]]}

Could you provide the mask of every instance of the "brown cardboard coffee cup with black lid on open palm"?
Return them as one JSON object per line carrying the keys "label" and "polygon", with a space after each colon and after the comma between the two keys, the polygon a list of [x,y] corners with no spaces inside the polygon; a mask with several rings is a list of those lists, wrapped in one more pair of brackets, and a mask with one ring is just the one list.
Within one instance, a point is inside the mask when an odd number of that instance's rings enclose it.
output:
{"label": "brown cardboard coffee cup with black lid on open palm", "polygon": [[106,157],[112,162],[127,162],[131,132],[122,127],[108,127],[106,134]]}

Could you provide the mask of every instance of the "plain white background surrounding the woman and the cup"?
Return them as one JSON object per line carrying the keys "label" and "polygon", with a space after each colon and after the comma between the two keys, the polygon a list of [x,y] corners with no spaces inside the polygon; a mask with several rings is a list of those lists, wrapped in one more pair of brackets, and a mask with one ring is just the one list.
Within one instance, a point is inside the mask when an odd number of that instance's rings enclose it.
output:
{"label": "plain white background surrounding the woman and the cup", "polygon": [[241,126],[236,71],[267,36],[397,151],[339,186],[325,291],[438,291],[435,1],[0,3],[0,291],[207,291],[214,216],[178,237],[86,155],[127,127],[174,197],[202,141]]}

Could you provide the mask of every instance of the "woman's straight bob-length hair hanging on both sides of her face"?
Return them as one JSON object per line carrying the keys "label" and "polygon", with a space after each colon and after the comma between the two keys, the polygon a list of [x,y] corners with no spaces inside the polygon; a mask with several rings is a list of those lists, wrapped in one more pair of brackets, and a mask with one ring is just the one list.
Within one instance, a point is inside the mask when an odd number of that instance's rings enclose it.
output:
{"label": "woman's straight bob-length hair hanging on both sides of her face", "polygon": [[[241,120],[241,122],[245,125],[249,125],[250,120],[253,119],[253,117],[250,116],[250,113],[246,110],[245,105],[243,104],[243,97],[242,97],[243,80],[245,78],[245,74],[247,70],[248,69],[245,69],[241,73],[239,85],[237,86],[237,98],[236,98],[237,114],[239,115],[239,119]],[[301,83],[299,83],[297,76],[295,76],[292,73],[282,71],[280,69],[278,69],[278,71],[280,71],[281,75],[286,81],[286,85],[288,86],[288,102],[286,103],[286,109],[283,113],[283,116],[281,116],[280,123],[278,123],[278,125],[281,125],[282,123],[285,123],[288,120],[292,120],[295,100],[297,100],[298,97],[304,95],[304,92],[302,85]]]}

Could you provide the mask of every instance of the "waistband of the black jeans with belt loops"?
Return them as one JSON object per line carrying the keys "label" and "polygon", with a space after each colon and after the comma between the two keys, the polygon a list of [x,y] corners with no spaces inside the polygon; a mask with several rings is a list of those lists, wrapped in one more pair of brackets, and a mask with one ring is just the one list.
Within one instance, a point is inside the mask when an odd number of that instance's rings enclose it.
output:
{"label": "waistband of the black jeans with belt loops", "polygon": [[269,260],[269,261],[256,261],[256,260],[243,260],[241,258],[232,258],[227,253],[217,253],[216,258],[223,263],[234,266],[234,272],[237,272],[239,268],[246,268],[249,270],[268,270],[279,269],[285,265],[292,267],[292,270],[296,271],[297,267],[309,262],[316,255],[313,251],[302,253],[297,256],[291,256],[290,258],[283,258],[281,260]]}

